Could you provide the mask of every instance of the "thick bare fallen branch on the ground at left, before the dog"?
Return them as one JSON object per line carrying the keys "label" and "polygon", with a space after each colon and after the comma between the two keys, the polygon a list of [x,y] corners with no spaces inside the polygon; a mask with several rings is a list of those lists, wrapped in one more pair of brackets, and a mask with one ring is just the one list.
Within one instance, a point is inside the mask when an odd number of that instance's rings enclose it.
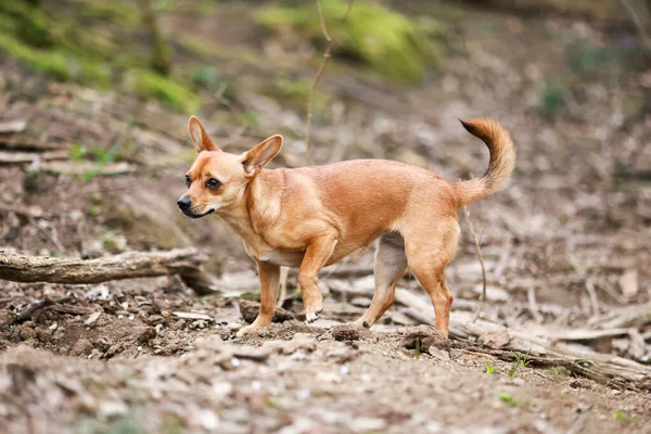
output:
{"label": "thick bare fallen branch on the ground at left, before the dog", "polygon": [[90,260],[0,253],[0,279],[87,284],[178,275],[197,294],[208,294],[216,289],[215,279],[201,268],[205,260],[194,248],[128,252]]}

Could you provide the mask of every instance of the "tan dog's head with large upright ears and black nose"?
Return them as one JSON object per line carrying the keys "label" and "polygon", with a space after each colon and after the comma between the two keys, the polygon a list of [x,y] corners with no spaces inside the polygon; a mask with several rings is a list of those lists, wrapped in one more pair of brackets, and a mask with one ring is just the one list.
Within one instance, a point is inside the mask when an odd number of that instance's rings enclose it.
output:
{"label": "tan dog's head with large upright ears and black nose", "polygon": [[242,202],[246,186],[273,158],[282,146],[282,136],[271,136],[240,155],[219,150],[201,122],[191,116],[188,131],[197,153],[186,174],[188,191],[177,202],[188,217],[227,213]]}

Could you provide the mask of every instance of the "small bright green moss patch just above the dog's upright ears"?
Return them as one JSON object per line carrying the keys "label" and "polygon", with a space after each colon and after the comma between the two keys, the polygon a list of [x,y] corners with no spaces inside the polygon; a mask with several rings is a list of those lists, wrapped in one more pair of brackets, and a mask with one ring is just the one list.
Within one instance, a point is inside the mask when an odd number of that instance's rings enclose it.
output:
{"label": "small bright green moss patch just above the dog's upright ears", "polygon": [[142,99],[161,101],[177,112],[196,112],[199,97],[188,87],[146,69],[135,69],[126,74],[126,90]]}

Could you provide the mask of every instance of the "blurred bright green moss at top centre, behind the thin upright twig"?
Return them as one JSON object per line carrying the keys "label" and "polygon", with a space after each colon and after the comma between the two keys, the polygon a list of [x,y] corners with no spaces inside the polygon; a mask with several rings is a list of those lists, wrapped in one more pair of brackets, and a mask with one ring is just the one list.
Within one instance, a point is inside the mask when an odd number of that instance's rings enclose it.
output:
{"label": "blurred bright green moss at top centre, behind the thin upright twig", "polygon": [[[347,2],[343,0],[323,3],[326,22],[332,33],[346,9]],[[271,29],[291,26],[318,47],[324,44],[319,16],[311,3],[296,8],[264,8],[256,12],[255,20]],[[435,31],[432,22],[427,26],[429,31]],[[335,38],[335,51],[340,54],[400,82],[418,81],[425,65],[437,64],[441,60],[441,48],[425,30],[409,17],[371,1],[355,2]]]}

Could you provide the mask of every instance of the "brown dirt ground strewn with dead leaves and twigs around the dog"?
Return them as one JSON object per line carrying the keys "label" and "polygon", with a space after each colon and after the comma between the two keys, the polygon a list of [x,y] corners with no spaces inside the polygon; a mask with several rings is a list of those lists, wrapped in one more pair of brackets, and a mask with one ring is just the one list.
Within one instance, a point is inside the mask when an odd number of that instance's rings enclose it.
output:
{"label": "brown dirt ground strewn with dead leaves and twigs around the dog", "polygon": [[[165,23],[173,35],[194,23],[216,47],[266,60],[203,54],[205,63],[222,62],[238,89],[237,104],[207,104],[205,124],[230,151],[283,133],[275,165],[302,165],[304,108],[267,89],[286,77],[310,82],[315,53],[241,30],[250,23],[238,8],[201,25],[174,14]],[[193,158],[187,116],[54,82],[2,59],[0,124],[25,119],[26,127],[0,135],[0,148],[43,156],[0,166],[0,255],[93,258],[192,245],[208,254],[205,268],[221,291],[197,296],[177,277],[0,281],[0,432],[651,433],[648,54],[626,29],[459,11],[442,69],[416,88],[349,65],[328,69],[315,159],[385,157],[468,178],[483,173],[486,152],[457,118],[503,123],[518,145],[513,179],[469,208],[488,277],[482,319],[549,339],[550,347],[624,359],[639,369],[637,381],[622,386],[616,376],[541,367],[529,360],[545,356],[536,348],[497,356],[464,335],[482,279],[462,216],[447,276],[456,298],[449,342],[422,324],[423,317],[433,322],[431,307],[414,312],[407,298],[370,331],[345,326],[370,303],[372,248],[323,270],[326,309],[315,324],[301,322],[292,273],[282,322],[235,337],[255,317],[254,264],[218,219],[189,220],[176,209]],[[609,63],[577,66],[567,60],[576,47]],[[646,68],[637,64],[643,61]],[[552,82],[564,103],[550,115]],[[256,122],[243,123],[242,113]],[[71,175],[31,149],[36,142],[69,152],[64,163],[73,169],[79,143],[98,155],[117,150],[119,158]],[[101,173],[115,164],[114,176]],[[412,277],[398,286],[429,303]],[[68,302],[14,321],[30,303],[65,295]],[[569,336],[573,330],[591,334]]]}

